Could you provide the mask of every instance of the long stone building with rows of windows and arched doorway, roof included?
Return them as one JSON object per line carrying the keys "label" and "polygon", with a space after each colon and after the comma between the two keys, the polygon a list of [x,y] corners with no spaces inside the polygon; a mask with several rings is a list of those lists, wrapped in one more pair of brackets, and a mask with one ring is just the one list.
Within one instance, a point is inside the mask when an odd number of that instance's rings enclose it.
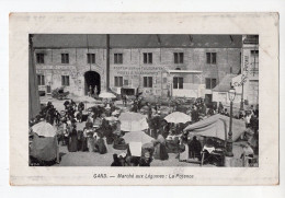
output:
{"label": "long stone building with rows of windows and arched doorway, roof included", "polygon": [[[73,39],[72,45],[66,45],[66,36],[64,44],[62,35],[58,40],[54,36],[52,44],[47,42],[50,37],[35,39],[39,90],[50,93],[65,86],[78,96],[88,93],[90,83],[99,92],[106,90],[104,36],[98,45],[75,44]],[[110,89],[117,93],[123,89],[133,94],[139,88],[145,95],[202,96],[212,101],[212,90],[221,79],[241,71],[241,36],[113,35],[111,40]]]}

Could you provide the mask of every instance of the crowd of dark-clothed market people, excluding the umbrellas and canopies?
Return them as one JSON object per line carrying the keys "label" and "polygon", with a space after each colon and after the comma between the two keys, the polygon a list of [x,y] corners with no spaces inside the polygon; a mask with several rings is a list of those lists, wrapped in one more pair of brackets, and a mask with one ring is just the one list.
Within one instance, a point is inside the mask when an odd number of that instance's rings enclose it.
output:
{"label": "crowd of dark-clothed market people, excluding the umbrellas and canopies", "polygon": [[[127,107],[127,96],[122,96],[123,106]],[[180,161],[187,159],[201,160],[202,143],[197,137],[189,137],[183,129],[193,123],[215,114],[229,116],[227,108],[223,104],[207,107],[203,98],[197,98],[189,106],[183,106],[185,113],[191,115],[192,120],[185,124],[167,123],[163,118],[162,105],[160,103],[144,102],[137,95],[127,110],[145,114],[149,129],[145,132],[153,140],[142,145],[141,156],[132,156],[129,148],[124,140],[125,131],[121,131],[121,123],[117,119],[122,108],[118,108],[112,100],[104,103],[104,106],[93,106],[86,109],[84,103],[76,104],[72,100],[65,101],[65,110],[60,113],[54,107],[52,102],[44,106],[38,116],[30,120],[30,126],[41,120],[46,120],[50,125],[58,127],[58,143],[66,145],[69,152],[98,152],[107,153],[107,144],[113,144],[114,149],[127,150],[126,152],[113,153],[112,166],[149,166],[152,159],[168,160],[169,153],[178,153]],[[179,110],[180,105],[169,106],[170,114]],[[110,120],[109,118],[112,117]],[[248,130],[242,139],[255,141],[258,147],[259,112],[256,109],[240,112],[238,119],[246,121]],[[78,123],[84,123],[83,129],[79,130]],[[254,139],[254,140],[253,140]],[[210,144],[206,142],[206,144]]]}

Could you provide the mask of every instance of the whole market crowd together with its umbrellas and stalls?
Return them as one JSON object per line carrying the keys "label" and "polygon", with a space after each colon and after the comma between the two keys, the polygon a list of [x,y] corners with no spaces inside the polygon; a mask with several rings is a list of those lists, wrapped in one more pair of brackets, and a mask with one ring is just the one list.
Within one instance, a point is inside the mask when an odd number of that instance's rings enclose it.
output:
{"label": "whole market crowd together with its umbrellas and stalls", "polygon": [[[60,164],[59,147],[66,147],[111,154],[111,166],[150,166],[170,153],[180,163],[224,166],[230,113],[221,103],[112,92],[75,101],[62,101],[61,110],[49,101],[30,120],[30,165]],[[241,166],[256,165],[258,141],[258,106],[233,110],[233,156]]]}

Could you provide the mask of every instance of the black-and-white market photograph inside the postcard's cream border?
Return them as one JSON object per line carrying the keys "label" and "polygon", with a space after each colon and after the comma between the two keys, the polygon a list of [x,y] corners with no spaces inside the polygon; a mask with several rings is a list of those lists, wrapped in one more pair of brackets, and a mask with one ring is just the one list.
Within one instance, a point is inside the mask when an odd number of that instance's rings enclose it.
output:
{"label": "black-and-white market photograph inside the postcard's cream border", "polygon": [[259,35],[27,39],[29,166],[259,167]]}

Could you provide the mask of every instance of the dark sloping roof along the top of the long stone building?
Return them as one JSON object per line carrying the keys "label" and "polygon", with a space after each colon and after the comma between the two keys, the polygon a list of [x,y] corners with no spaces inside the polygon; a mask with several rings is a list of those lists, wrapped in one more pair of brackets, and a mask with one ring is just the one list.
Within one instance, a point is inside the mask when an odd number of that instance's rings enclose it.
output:
{"label": "dark sloping roof along the top of the long stone building", "polygon": [[[105,34],[35,34],[35,48],[105,48]],[[241,35],[111,34],[111,48],[241,48]]]}

